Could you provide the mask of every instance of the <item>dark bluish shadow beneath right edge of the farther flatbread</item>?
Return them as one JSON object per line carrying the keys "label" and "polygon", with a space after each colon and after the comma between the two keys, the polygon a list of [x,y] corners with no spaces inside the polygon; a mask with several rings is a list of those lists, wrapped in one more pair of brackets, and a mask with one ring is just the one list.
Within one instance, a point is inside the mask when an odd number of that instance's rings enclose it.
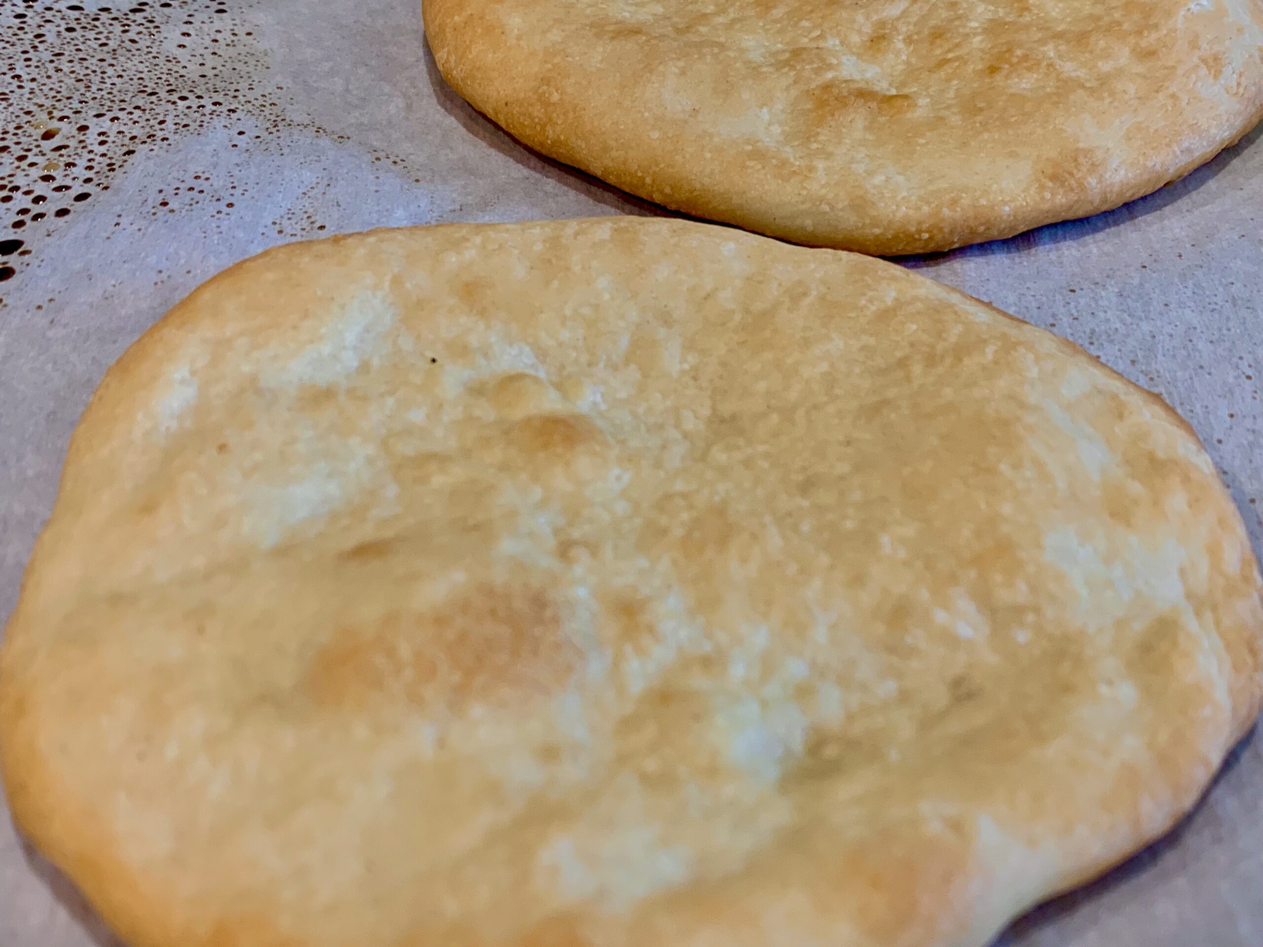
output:
{"label": "dark bluish shadow beneath right edge of the farther flatbread", "polygon": [[1263,138],[1263,124],[1257,125],[1235,145],[1225,148],[1211,160],[1190,172],[1185,177],[1172,181],[1170,184],[1164,184],[1144,197],[1138,197],[1134,201],[1120,205],[1111,211],[1103,211],[1092,215],[1091,217],[1080,217],[1077,220],[1046,223],[1042,227],[1027,230],[1005,240],[989,240],[981,244],[970,244],[967,246],[961,246],[955,250],[947,250],[938,254],[898,256],[894,258],[894,260],[911,269],[919,269],[922,266],[933,266],[949,258],[1007,256],[1009,254],[1024,253],[1036,246],[1080,240],[1086,236],[1100,234],[1105,230],[1123,226],[1139,220],[1140,217],[1147,217],[1151,213],[1166,210],[1177,201],[1186,200],[1195,191],[1199,191],[1201,187],[1218,177],[1220,172],[1223,172],[1236,157],[1239,157],[1260,138]]}

